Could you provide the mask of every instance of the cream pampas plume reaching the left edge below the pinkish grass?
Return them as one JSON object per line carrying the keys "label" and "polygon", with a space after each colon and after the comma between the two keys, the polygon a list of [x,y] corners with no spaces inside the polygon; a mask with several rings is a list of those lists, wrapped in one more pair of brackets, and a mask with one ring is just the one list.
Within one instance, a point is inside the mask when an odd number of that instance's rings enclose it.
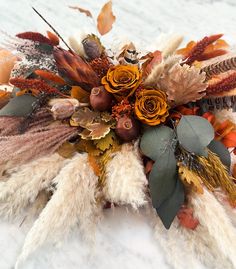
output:
{"label": "cream pampas plume reaching the left edge below the pinkish grass", "polygon": [[11,175],[8,180],[0,181],[0,215],[15,217],[33,203],[39,192],[50,186],[66,162],[54,153],[8,171]]}

